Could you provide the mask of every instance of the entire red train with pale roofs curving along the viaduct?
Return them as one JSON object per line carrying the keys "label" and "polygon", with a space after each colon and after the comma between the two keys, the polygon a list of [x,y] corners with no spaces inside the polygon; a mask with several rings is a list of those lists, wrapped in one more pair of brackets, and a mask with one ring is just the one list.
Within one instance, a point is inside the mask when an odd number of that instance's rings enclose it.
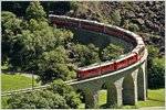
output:
{"label": "entire red train with pale roofs curving along the viaduct", "polygon": [[79,79],[103,75],[106,73],[111,73],[124,68],[136,62],[139,62],[141,58],[144,56],[145,44],[142,37],[136,35],[133,32],[121,29],[118,26],[108,25],[108,24],[104,24],[91,20],[87,21],[82,19],[75,19],[75,18],[70,18],[64,15],[53,15],[53,14],[49,15],[49,22],[51,24],[75,26],[75,28],[81,28],[90,31],[101,32],[124,40],[125,42],[131,43],[135,46],[135,48],[132,52],[121,55],[115,59],[92,64],[85,67],[80,67],[77,69]]}

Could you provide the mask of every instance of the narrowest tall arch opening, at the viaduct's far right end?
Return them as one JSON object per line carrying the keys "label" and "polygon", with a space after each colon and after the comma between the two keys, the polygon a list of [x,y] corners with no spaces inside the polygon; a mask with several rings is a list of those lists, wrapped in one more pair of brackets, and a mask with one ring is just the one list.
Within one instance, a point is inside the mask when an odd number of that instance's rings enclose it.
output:
{"label": "narrowest tall arch opening, at the viaduct's far right end", "polygon": [[143,68],[139,68],[137,73],[137,97],[138,100],[145,100],[146,97],[145,77]]}

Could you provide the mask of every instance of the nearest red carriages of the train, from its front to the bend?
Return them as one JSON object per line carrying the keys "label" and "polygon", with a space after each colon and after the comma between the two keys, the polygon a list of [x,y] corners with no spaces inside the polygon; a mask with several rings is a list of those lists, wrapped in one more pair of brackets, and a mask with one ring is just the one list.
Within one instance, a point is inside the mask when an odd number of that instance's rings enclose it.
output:
{"label": "nearest red carriages of the train, from its front to the bend", "polygon": [[138,53],[131,52],[129,54],[122,55],[111,62],[98,63],[95,65],[81,67],[77,70],[79,78],[87,78],[87,77],[105,74],[108,72],[114,72],[114,70],[124,68],[126,66],[129,66],[129,65],[138,62],[143,57],[145,47],[141,46],[139,48],[141,50],[138,51]]}

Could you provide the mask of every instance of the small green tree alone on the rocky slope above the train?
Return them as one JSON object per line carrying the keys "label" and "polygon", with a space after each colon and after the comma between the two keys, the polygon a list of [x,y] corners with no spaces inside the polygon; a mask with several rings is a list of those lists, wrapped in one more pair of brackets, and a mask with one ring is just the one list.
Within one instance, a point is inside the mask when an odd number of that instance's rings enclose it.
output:
{"label": "small green tree alone on the rocky slope above the train", "polygon": [[113,13],[113,21],[114,21],[114,24],[115,25],[120,25],[121,24],[121,13],[120,13],[120,10],[116,10],[114,13]]}

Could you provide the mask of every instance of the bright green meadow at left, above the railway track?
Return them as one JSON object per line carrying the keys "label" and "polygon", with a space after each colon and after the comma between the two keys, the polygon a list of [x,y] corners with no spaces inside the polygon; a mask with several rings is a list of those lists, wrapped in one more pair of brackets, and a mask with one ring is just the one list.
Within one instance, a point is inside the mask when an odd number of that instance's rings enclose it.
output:
{"label": "bright green meadow at left, above the railway track", "polygon": [[[20,76],[20,75],[8,75],[1,74],[1,85],[2,91],[17,90],[30,88],[32,86],[32,79],[30,77]],[[34,86],[39,86],[34,80]]]}

